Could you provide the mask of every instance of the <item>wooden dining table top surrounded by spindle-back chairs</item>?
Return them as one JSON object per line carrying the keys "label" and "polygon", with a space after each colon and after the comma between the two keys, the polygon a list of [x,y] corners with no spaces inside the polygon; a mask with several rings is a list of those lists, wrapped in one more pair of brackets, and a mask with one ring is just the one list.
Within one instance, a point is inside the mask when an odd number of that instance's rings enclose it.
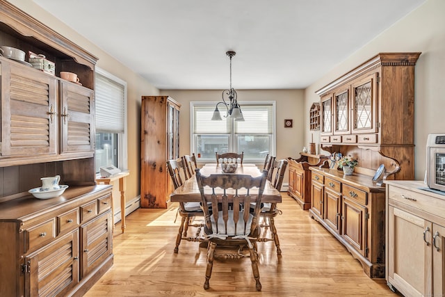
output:
{"label": "wooden dining table top surrounded by spindle-back chairs", "polygon": [[[206,163],[200,168],[201,175],[210,176],[218,174],[226,174],[221,169],[221,164]],[[250,175],[252,177],[261,176],[262,170],[260,170],[255,164],[245,163],[238,165],[234,173],[227,173],[231,175]],[[206,189],[204,188],[204,193]],[[209,189],[210,191],[210,189]],[[254,194],[253,188],[250,193]],[[197,186],[196,175],[187,179],[182,186],[179,186],[175,191],[170,194],[170,202],[201,202],[200,189]],[[264,186],[263,196],[261,202],[268,203],[281,203],[282,198],[280,191],[274,188],[270,181],[266,181]]]}

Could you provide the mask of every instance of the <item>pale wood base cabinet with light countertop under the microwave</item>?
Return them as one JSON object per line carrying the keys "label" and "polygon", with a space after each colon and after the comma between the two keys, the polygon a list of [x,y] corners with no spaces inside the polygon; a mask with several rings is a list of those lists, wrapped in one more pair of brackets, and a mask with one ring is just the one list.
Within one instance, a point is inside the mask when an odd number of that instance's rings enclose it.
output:
{"label": "pale wood base cabinet with light countertop under the microwave", "polygon": [[445,195],[387,183],[387,283],[404,296],[444,296]]}

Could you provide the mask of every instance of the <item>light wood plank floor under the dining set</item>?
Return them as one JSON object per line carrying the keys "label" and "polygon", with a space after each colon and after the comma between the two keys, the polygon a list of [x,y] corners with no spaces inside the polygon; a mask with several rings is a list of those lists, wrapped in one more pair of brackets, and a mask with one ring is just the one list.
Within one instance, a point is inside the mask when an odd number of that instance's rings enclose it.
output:
{"label": "light wood plank floor under the dining set", "polygon": [[255,290],[250,259],[216,260],[204,290],[207,250],[182,241],[173,253],[180,218],[176,208],[138,209],[127,229],[115,227],[114,265],[86,296],[398,296],[385,280],[371,279],[334,236],[282,193],[273,242],[258,243],[262,291]]}

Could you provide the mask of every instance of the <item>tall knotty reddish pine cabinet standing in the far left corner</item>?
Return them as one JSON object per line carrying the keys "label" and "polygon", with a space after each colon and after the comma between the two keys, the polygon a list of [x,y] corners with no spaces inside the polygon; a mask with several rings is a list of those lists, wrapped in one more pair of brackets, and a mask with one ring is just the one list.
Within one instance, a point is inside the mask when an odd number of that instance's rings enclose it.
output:
{"label": "tall knotty reddish pine cabinet standing in the far left corner", "polygon": [[167,208],[173,185],[166,161],[179,158],[179,109],[168,96],[143,96],[140,127],[140,205]]}

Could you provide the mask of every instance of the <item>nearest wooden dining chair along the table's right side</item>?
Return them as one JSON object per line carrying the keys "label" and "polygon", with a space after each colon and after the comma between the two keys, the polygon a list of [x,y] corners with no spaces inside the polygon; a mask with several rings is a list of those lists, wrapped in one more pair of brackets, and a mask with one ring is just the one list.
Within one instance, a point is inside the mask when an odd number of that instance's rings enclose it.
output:
{"label": "nearest wooden dining chair along the table's right side", "polygon": [[[284,174],[286,173],[288,161],[285,159],[275,161],[275,157],[273,162],[270,165],[268,171],[268,180],[272,183],[273,187],[280,191],[281,186],[283,184]],[[254,207],[254,204],[250,205],[251,208]],[[275,246],[277,247],[277,255],[281,255],[282,251],[280,248],[280,239],[278,239],[277,227],[275,227],[275,216],[278,214],[282,214],[280,209],[277,209],[276,203],[264,203],[261,207],[261,228],[267,230],[270,229],[270,237],[266,236],[266,232],[264,232],[264,236],[258,240],[259,242],[267,242],[274,241]]]}

